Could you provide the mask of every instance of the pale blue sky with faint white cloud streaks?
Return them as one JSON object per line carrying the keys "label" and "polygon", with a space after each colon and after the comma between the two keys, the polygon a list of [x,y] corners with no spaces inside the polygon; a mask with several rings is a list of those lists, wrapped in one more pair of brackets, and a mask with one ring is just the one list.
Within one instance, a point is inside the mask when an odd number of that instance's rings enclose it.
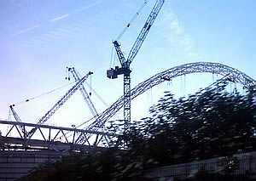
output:
{"label": "pale blue sky with faint white cloud streaks", "polygon": [[[67,66],[75,67],[83,76],[93,71],[87,82],[112,105],[123,94],[122,77],[110,80],[106,76],[111,66],[119,65],[112,55],[112,42],[143,3],[143,0],[0,0],[0,118],[8,119],[9,105],[15,104],[22,122],[38,122],[72,87],[69,83],[73,81],[65,80]],[[149,0],[119,39],[126,56],[154,3]],[[254,0],[166,0],[131,64],[131,88],[173,66],[198,61],[229,65],[256,79],[255,8]],[[217,78],[196,74],[164,82],[132,101],[131,118],[148,116],[149,107],[164,91],[183,96],[207,87]],[[52,90],[55,91],[48,93]],[[26,99],[32,100],[19,104]],[[107,109],[95,93],[91,100],[98,112]],[[119,111],[115,119],[121,119],[122,115]],[[71,127],[91,116],[78,91],[47,123]]]}

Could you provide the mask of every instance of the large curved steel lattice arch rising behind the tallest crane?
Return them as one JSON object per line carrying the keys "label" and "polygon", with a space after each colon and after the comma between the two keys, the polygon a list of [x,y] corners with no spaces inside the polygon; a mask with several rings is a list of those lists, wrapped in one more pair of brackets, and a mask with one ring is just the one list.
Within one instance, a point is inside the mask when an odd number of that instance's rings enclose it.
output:
{"label": "large curved steel lattice arch rising behind the tallest crane", "polygon": [[[228,65],[223,65],[219,63],[212,62],[196,62],[189,63],[185,65],[179,65],[172,67],[166,71],[162,71],[150,78],[148,80],[141,82],[135,88],[131,89],[131,99],[136,98],[138,95],[146,92],[149,88],[171,80],[177,76],[183,76],[191,73],[203,73],[209,72],[217,75],[226,76],[230,78],[233,82],[240,83],[244,88],[250,88],[256,86],[256,81],[245,73],[238,71]],[[104,110],[102,114],[96,119],[95,122],[87,127],[90,130],[96,131],[101,128],[105,122],[107,122],[118,110],[120,110],[124,105],[124,96],[120,97],[116,102],[113,103],[107,110]]]}

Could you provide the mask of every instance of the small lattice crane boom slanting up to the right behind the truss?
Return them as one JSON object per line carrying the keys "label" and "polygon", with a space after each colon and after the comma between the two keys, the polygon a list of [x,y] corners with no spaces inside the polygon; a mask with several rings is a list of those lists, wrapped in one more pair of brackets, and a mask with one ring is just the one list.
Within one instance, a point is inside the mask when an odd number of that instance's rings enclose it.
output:
{"label": "small lattice crane boom slanting up to the right behind the truss", "polygon": [[[73,86],[73,88],[70,88],[67,93],[65,93],[65,95],[63,95],[61,97],[61,99],[43,116],[39,119],[38,124],[44,124],[44,122],[47,122],[47,120],[49,119],[50,116],[52,116],[53,114],[55,114],[55,111],[57,111],[61,105],[63,105],[67,99],[69,99],[73,93],[75,93],[84,83],[84,81],[88,78],[88,76],[90,76],[91,74],[93,74],[91,71],[89,71],[89,73],[87,73],[85,76],[83,76],[79,82],[76,82],[76,84]],[[32,128],[32,130],[28,133],[28,137],[32,137],[32,134],[35,133],[35,131],[37,130],[38,127],[34,127]]]}

